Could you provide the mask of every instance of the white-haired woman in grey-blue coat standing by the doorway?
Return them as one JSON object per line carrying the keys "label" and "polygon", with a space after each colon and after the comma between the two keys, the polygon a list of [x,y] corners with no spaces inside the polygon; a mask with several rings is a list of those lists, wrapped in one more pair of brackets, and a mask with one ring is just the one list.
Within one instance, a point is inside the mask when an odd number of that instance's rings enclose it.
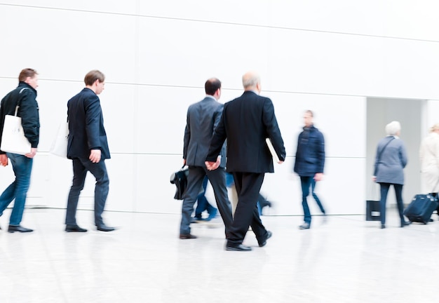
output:
{"label": "white-haired woman in grey-blue coat standing by the doorway", "polygon": [[398,203],[401,227],[410,224],[403,215],[404,168],[407,165],[407,152],[403,140],[400,139],[401,126],[398,121],[386,125],[386,137],[378,142],[372,180],[379,183],[381,199],[379,201],[381,229],[386,228],[386,199],[389,188],[393,185]]}

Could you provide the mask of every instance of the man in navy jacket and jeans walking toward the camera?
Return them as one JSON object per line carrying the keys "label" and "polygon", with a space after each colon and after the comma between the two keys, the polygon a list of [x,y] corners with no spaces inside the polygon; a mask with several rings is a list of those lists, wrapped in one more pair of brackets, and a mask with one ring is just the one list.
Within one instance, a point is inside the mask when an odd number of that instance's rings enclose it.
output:
{"label": "man in navy jacket and jeans walking toward the camera", "polygon": [[[306,197],[313,182],[322,180],[325,166],[325,139],[323,134],[313,125],[313,112],[307,110],[304,114],[304,130],[299,135],[294,171],[299,175],[302,184],[302,206],[304,208],[304,223],[299,229],[311,227],[311,213]],[[320,210],[325,213],[318,198]]]}

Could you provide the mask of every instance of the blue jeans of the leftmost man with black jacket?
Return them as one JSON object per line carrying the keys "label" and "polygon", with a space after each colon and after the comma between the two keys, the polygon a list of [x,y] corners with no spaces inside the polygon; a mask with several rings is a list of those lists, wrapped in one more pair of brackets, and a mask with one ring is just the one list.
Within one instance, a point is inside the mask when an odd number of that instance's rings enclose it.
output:
{"label": "blue jeans of the leftmost man with black jacket", "polygon": [[15,174],[15,181],[12,182],[0,196],[0,216],[3,215],[3,211],[15,198],[11,218],[9,219],[9,225],[18,226],[20,225],[23,211],[25,210],[26,195],[30,185],[33,159],[20,154],[6,153],[6,155],[11,161]]}

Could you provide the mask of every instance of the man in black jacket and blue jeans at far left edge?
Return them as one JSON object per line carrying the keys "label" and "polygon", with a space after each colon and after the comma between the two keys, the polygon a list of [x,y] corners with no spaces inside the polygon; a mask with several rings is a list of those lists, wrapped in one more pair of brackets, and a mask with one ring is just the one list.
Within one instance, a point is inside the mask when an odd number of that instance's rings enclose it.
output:
{"label": "man in black jacket and blue jeans at far left edge", "polygon": [[23,69],[18,76],[18,87],[12,90],[1,100],[0,105],[0,146],[3,135],[4,119],[6,115],[14,115],[15,107],[18,106],[17,116],[22,119],[23,132],[31,144],[29,153],[13,154],[0,150],[0,164],[8,165],[8,159],[12,163],[15,173],[15,181],[5,189],[0,196],[0,216],[8,205],[15,199],[14,207],[9,220],[8,231],[13,233],[29,232],[20,225],[25,210],[27,190],[30,185],[33,158],[39,143],[39,113],[36,102],[36,88],[38,87],[38,73],[34,69]]}

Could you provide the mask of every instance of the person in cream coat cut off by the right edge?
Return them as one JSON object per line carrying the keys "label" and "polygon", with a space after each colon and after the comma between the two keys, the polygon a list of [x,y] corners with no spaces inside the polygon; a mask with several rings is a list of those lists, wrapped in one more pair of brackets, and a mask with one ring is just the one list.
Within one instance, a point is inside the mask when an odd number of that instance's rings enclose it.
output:
{"label": "person in cream coat cut off by the right edge", "polygon": [[430,128],[430,133],[422,140],[419,148],[421,163],[422,192],[439,191],[439,123]]}

